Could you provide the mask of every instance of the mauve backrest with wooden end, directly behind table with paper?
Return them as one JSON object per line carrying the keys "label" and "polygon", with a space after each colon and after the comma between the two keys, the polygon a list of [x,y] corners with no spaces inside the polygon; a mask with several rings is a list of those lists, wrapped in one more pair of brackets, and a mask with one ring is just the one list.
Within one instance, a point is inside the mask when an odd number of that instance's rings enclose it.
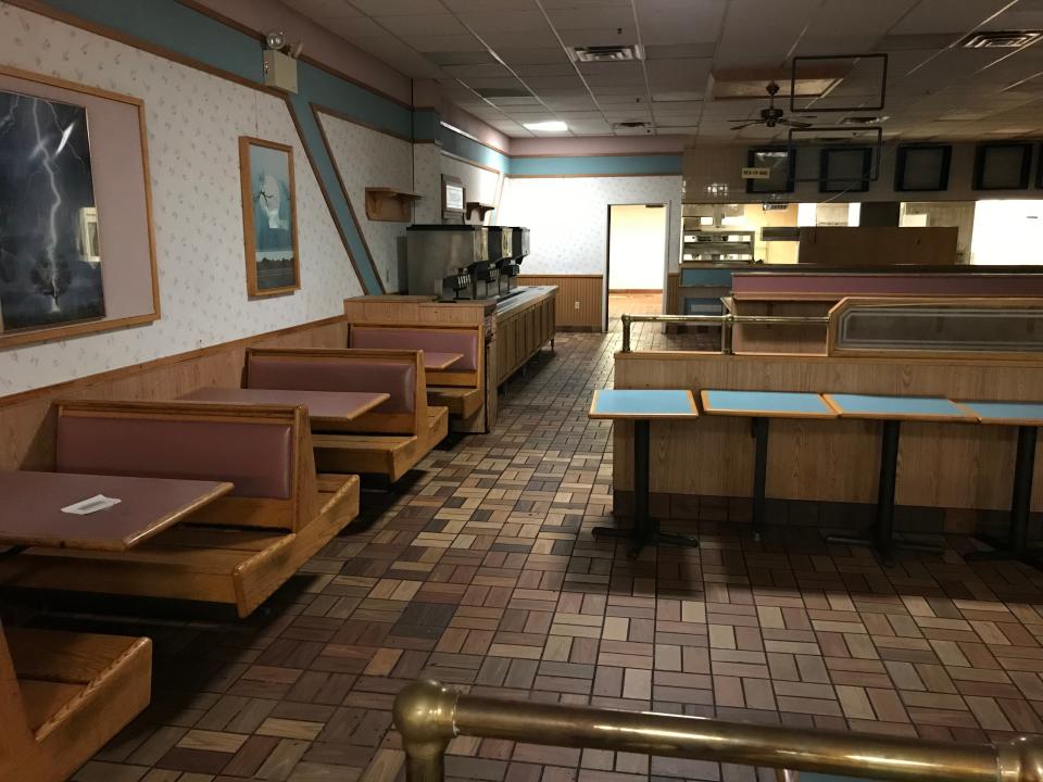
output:
{"label": "mauve backrest with wooden end, directly behind table with paper", "polygon": [[58,403],[59,472],[222,480],[191,521],[299,530],[317,513],[304,407],[197,402]]}

